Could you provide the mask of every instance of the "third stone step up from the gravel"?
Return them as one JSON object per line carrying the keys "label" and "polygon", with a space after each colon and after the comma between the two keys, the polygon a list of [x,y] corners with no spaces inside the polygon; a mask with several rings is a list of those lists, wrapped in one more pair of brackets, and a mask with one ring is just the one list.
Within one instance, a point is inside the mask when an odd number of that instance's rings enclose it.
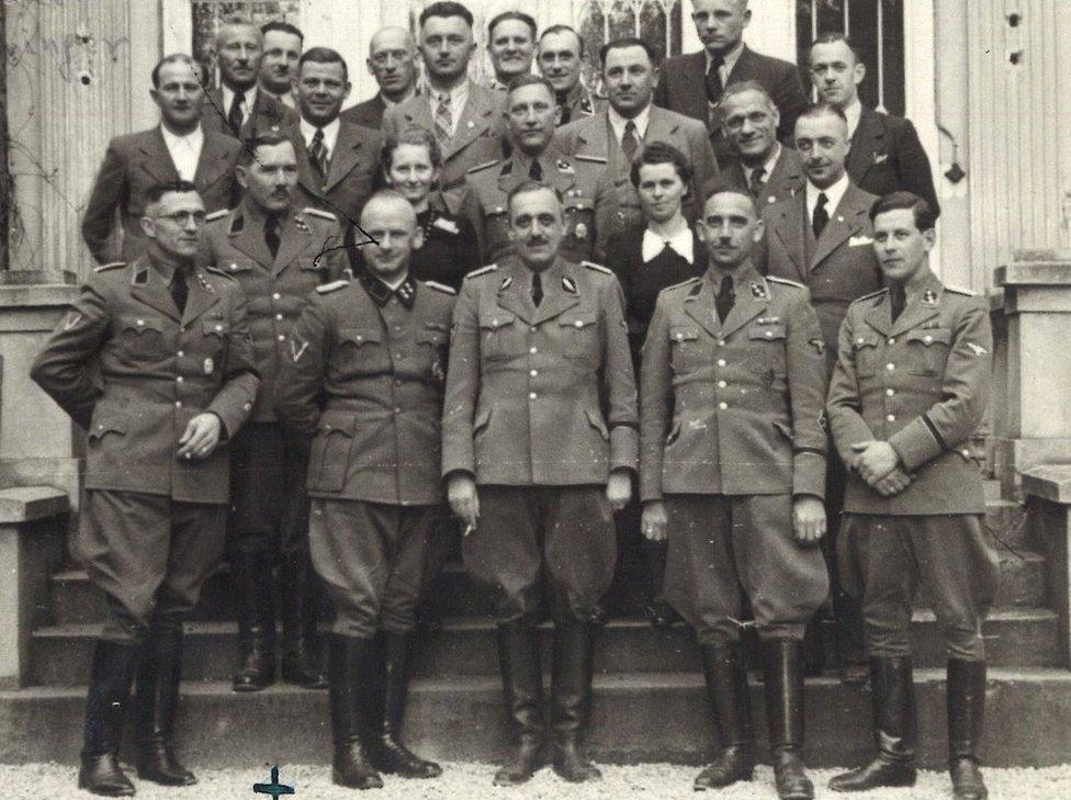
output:
{"label": "third stone step up from the gravel", "polygon": [[[1045,556],[1030,550],[997,545],[1002,562],[1001,591],[997,607],[1031,608],[1045,606]],[[615,616],[640,613],[642,591],[632,587],[646,585],[639,564],[625,564],[615,581],[608,606]],[[52,577],[52,609],[56,624],[100,622],[104,619],[104,598],[89,583],[84,572],[66,571]],[[439,613],[447,617],[489,615],[493,604],[484,591],[472,584],[461,564],[447,564],[431,588]],[[227,621],[235,619],[235,593],[230,572],[219,567],[205,583],[201,601],[191,615],[194,621]]]}

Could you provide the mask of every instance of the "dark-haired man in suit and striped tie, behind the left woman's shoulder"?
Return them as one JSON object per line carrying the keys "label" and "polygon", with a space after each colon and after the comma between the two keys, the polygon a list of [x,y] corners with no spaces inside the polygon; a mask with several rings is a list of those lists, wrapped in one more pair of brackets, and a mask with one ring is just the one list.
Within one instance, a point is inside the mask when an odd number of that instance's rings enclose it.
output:
{"label": "dark-haired man in suit and striped tie, behind the left woman's shoulder", "polygon": [[383,137],[339,119],[350,82],[346,61],[335,50],[306,50],[294,91],[301,121],[290,133],[297,145],[298,203],[330,212],[343,229],[356,225],[372,195]]}

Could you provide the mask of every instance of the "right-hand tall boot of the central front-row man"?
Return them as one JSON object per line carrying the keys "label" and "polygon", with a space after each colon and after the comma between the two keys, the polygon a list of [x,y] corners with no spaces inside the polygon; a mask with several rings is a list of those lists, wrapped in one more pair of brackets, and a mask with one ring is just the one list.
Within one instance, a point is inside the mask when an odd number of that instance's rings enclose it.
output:
{"label": "right-hand tall boot of the central front-row man", "polygon": [[591,713],[595,628],[567,613],[554,621],[554,663],[551,665],[553,767],[571,784],[602,778],[602,773],[587,759],[580,747]]}

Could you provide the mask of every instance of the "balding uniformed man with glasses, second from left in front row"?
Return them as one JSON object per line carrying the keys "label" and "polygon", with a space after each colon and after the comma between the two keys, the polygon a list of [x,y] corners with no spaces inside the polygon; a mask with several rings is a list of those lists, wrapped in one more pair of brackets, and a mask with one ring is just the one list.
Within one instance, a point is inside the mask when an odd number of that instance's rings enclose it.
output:
{"label": "balding uniformed man with glasses, second from left in front row", "polygon": [[358,280],[319,286],[290,339],[277,413],[312,438],[313,564],[335,604],[334,780],[383,786],[376,769],[433,778],[399,741],[406,662],[441,508],[439,419],[455,293],[414,281],[422,232],[402,195],[361,214],[373,244]]}

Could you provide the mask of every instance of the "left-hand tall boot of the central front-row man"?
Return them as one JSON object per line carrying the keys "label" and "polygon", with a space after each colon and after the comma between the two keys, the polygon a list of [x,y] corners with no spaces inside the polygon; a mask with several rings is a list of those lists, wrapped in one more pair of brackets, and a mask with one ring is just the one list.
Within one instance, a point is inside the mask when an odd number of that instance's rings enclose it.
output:
{"label": "left-hand tall boot of the central front-row man", "polygon": [[509,760],[495,773],[495,786],[519,786],[542,766],[543,673],[533,626],[526,621],[498,626],[498,664],[506,714],[517,744]]}

